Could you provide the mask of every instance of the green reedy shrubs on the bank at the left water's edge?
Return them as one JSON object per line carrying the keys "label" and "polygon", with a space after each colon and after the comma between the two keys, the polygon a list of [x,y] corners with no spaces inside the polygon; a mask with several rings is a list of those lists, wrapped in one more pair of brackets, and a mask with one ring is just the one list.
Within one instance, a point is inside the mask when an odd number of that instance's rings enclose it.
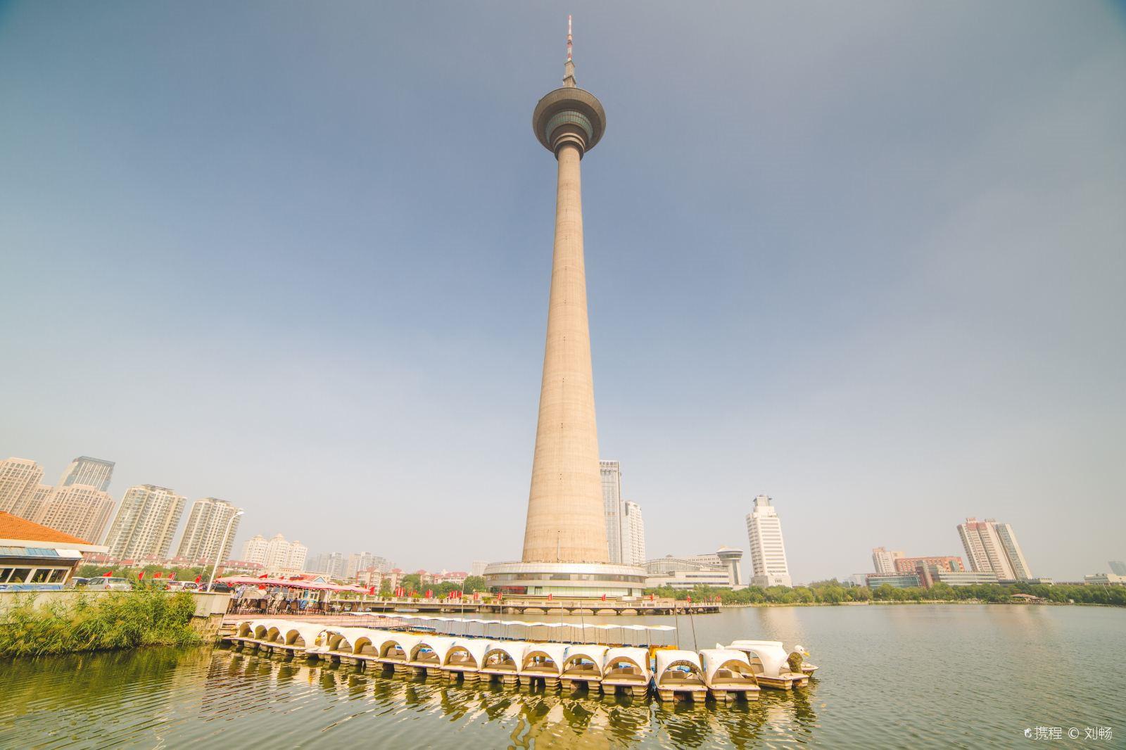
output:
{"label": "green reedy shrubs on the bank at the left water's edge", "polygon": [[0,615],[0,658],[195,645],[191,595],[138,589],[34,605],[25,597]]}

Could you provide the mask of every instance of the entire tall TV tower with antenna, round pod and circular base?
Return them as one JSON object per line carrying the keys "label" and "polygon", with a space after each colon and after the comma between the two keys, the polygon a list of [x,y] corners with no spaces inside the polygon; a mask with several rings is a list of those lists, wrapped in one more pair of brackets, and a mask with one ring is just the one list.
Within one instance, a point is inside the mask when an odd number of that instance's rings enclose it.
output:
{"label": "entire tall TV tower with antenna, round pod and circular base", "polygon": [[568,34],[563,86],[544,96],[533,131],[557,162],[555,241],[531,485],[519,562],[489,565],[510,593],[640,595],[645,571],[610,562],[587,313],[579,163],[602,137],[601,102],[575,86]]}

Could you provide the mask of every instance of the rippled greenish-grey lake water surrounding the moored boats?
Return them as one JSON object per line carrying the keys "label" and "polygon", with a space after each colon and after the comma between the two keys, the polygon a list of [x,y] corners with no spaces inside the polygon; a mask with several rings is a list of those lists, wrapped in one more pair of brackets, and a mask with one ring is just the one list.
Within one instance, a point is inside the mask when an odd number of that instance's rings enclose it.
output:
{"label": "rippled greenish-grey lake water surrounding the moored boats", "polygon": [[51,657],[0,662],[0,748],[1126,748],[1126,609],[771,607],[679,625],[688,649],[694,627],[700,649],[801,643],[819,678],[734,707],[670,707],[225,649]]}

